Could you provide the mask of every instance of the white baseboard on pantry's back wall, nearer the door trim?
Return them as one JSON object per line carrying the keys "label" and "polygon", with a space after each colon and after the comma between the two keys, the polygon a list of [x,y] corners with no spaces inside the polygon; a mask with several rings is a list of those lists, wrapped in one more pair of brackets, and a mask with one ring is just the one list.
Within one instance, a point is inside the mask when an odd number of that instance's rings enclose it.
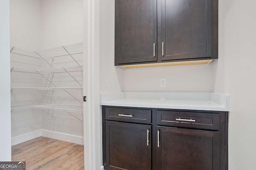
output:
{"label": "white baseboard on pantry's back wall, nearer the door trim", "polygon": [[71,142],[71,143],[76,143],[79,145],[84,145],[84,138],[80,136],[75,136],[75,135],[69,135],[66,133],[59,133],[59,132],[54,132],[54,131],[47,131],[47,130],[41,130],[41,135],[43,137],[49,137],[52,139],[58,139],[61,141],[66,141],[66,142]]}

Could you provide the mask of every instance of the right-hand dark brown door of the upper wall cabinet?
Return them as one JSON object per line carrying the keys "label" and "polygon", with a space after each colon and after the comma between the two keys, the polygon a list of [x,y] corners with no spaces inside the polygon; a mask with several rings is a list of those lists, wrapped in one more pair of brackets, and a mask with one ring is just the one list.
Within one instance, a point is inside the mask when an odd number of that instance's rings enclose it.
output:
{"label": "right-hand dark brown door of the upper wall cabinet", "polygon": [[161,0],[162,61],[218,58],[216,21],[216,0]]}

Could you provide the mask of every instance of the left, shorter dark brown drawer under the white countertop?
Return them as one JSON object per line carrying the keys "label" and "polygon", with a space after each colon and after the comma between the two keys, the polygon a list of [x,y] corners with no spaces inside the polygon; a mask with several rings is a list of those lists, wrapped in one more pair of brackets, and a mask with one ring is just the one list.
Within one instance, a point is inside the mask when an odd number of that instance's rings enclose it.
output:
{"label": "left, shorter dark brown drawer under the white countertop", "polygon": [[127,109],[117,107],[105,107],[106,120],[151,123],[150,109]]}

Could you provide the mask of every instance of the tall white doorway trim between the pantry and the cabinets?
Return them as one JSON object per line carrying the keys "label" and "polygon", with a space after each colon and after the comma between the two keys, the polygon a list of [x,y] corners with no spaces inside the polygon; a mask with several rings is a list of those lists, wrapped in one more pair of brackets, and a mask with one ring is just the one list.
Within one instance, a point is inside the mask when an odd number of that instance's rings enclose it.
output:
{"label": "tall white doorway trim between the pantry and the cabinets", "polygon": [[103,170],[99,92],[99,0],[84,0],[84,169]]}

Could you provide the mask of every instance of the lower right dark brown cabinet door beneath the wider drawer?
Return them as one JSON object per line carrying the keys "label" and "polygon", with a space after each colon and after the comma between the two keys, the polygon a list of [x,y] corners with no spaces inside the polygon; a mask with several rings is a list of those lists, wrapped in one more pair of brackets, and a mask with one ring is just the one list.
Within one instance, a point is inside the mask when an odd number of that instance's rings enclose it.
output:
{"label": "lower right dark brown cabinet door beneath the wider drawer", "polygon": [[218,131],[157,126],[157,170],[220,170]]}

